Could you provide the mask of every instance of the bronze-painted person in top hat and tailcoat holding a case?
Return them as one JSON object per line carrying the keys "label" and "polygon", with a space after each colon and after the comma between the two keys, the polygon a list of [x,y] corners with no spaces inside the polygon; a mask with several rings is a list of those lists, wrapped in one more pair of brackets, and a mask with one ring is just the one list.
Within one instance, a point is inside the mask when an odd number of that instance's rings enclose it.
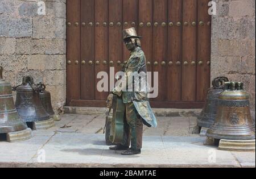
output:
{"label": "bronze-painted person in top hat and tailcoat holding a case", "polygon": [[[140,38],[141,36],[137,35],[135,28],[123,30],[123,40],[127,49],[130,51],[130,58],[123,64],[125,75],[117,83],[121,84],[125,81],[126,85],[122,85],[122,87],[117,85],[113,90],[113,94],[121,97],[123,103],[125,103],[126,115],[123,119],[124,136],[122,144],[110,147],[112,150],[125,150],[121,153],[122,155],[136,155],[141,153],[143,124],[148,127],[156,127],[157,125],[155,115],[152,113],[148,101],[148,91],[142,88],[141,90],[135,90],[134,87],[133,90],[127,90],[129,86],[138,84],[143,80],[146,81],[146,57],[141,49]],[[136,72],[144,74],[144,77],[143,75],[140,76],[140,80],[131,78],[133,80],[129,84],[128,78]],[[110,94],[108,99],[113,98],[113,94]],[[129,148],[130,144],[131,148]]]}

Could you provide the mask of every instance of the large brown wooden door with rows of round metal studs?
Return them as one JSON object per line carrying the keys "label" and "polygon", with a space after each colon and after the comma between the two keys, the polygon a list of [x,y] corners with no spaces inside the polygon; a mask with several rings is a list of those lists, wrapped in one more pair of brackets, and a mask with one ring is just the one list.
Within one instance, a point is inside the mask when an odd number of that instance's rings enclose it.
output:
{"label": "large brown wooden door with rows of round metal studs", "polygon": [[108,91],[97,90],[97,74],[121,69],[129,58],[122,30],[135,27],[148,72],[158,72],[151,106],[202,107],[210,85],[208,2],[67,0],[67,105],[105,107]]}

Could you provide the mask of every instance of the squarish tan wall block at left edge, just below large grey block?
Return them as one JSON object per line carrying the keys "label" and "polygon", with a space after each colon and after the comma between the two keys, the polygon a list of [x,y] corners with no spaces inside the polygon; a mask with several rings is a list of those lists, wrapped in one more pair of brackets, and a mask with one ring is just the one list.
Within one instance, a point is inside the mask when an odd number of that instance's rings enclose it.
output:
{"label": "squarish tan wall block at left edge, just below large grey block", "polygon": [[10,55],[15,53],[16,39],[14,38],[0,38],[0,54]]}

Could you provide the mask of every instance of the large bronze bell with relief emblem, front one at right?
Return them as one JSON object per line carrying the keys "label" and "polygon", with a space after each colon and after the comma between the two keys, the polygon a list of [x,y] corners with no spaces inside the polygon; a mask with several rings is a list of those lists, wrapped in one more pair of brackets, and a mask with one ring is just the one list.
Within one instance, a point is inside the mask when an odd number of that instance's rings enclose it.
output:
{"label": "large bronze bell with relief emblem, front one at right", "polygon": [[225,82],[225,90],[218,96],[216,120],[206,135],[213,139],[255,139],[249,94],[242,82]]}

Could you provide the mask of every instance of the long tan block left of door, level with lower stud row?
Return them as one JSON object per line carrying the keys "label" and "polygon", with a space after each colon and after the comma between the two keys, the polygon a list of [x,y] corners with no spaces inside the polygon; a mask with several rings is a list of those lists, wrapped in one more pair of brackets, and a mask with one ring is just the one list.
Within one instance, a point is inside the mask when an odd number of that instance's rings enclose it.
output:
{"label": "long tan block left of door, level with lower stud row", "polygon": [[28,58],[28,69],[65,70],[65,55],[31,55]]}

